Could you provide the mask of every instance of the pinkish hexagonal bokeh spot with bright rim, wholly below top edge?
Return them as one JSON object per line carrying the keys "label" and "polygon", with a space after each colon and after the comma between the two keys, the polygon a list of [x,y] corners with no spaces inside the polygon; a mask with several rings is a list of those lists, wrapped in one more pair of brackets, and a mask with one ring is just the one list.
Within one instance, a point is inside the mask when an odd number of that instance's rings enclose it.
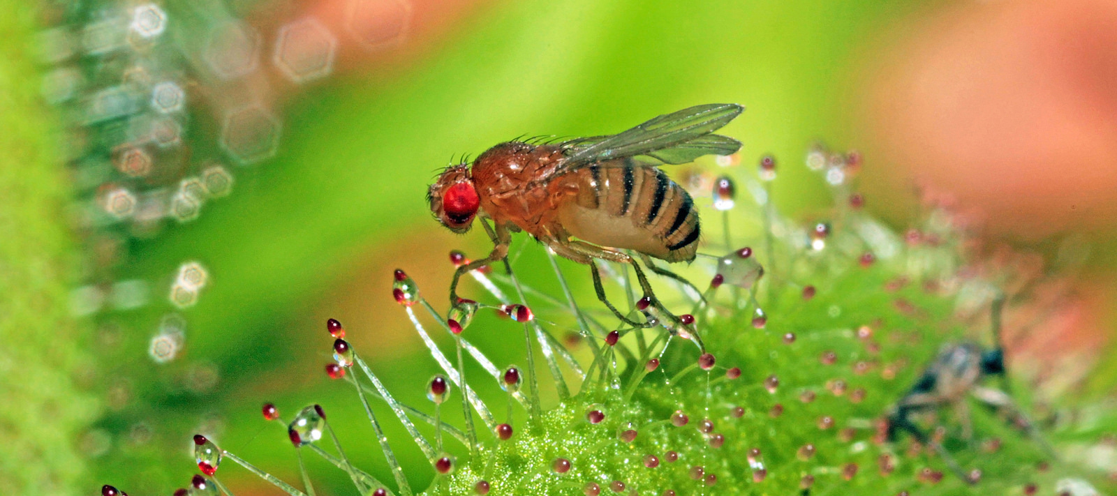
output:
{"label": "pinkish hexagonal bokeh spot with bright rim, wholly below top edge", "polygon": [[295,83],[323,78],[334,69],[337,38],[314,19],[300,19],[279,28],[273,63]]}

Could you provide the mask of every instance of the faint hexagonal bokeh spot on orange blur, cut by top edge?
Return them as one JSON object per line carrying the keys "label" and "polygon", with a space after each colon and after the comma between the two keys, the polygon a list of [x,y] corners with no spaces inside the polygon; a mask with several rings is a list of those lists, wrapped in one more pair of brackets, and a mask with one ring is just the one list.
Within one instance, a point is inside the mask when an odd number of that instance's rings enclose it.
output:
{"label": "faint hexagonal bokeh spot on orange blur, cut by top edge", "polygon": [[364,49],[393,47],[407,39],[411,11],[411,0],[350,0],[345,30]]}

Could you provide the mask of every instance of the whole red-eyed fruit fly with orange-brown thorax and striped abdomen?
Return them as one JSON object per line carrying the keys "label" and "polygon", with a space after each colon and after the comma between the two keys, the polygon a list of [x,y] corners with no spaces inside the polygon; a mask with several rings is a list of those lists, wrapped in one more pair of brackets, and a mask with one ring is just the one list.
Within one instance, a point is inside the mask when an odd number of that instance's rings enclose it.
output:
{"label": "whole red-eyed fruit fly with orange-brown thorax and striped abdomen", "polygon": [[620,134],[550,144],[510,141],[488,149],[472,164],[447,168],[427,193],[431,212],[459,233],[468,231],[476,217],[491,220],[493,227],[481,223],[495,245],[488,257],[458,267],[450,304],[459,299],[462,274],[504,259],[510,235],[526,231],[555,254],[589,265],[598,299],[621,321],[655,325],[629,319],[605,298],[594,260],[631,264],[645,302],[678,323],[656,301],[643,270],[624,250],[636,252],[653,273],[686,283],[649,258],[691,261],[701,235],[694,200],[657,165],[735,153],[741,142],[713,133],[742,111],[736,104],[698,105]]}

